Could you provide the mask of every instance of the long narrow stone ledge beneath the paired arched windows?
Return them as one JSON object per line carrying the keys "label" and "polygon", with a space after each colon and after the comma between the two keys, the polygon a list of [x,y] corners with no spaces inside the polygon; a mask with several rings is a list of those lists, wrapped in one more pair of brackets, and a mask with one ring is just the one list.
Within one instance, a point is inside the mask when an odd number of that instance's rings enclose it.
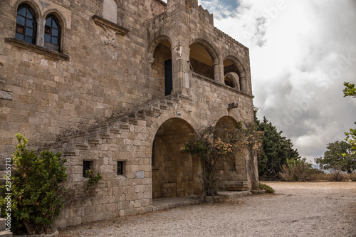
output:
{"label": "long narrow stone ledge beneath the paired arched windows", "polygon": [[35,52],[35,53],[40,53],[45,56],[51,57],[51,58],[56,58],[58,60],[69,60],[69,56],[64,54],[64,53],[59,53],[56,51],[51,51],[48,48],[43,48],[41,46],[36,46],[32,43],[27,43],[25,41],[20,41],[16,38],[5,38],[5,42],[9,43],[11,46],[16,46],[19,48],[24,48],[28,49],[29,51]]}

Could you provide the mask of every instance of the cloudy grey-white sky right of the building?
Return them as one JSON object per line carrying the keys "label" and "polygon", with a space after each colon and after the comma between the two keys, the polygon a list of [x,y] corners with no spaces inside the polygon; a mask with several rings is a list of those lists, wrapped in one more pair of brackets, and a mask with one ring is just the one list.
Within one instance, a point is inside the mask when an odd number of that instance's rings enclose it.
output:
{"label": "cloudy grey-white sky right of the building", "polygon": [[253,103],[302,157],[356,127],[355,0],[199,0],[214,25],[250,49]]}

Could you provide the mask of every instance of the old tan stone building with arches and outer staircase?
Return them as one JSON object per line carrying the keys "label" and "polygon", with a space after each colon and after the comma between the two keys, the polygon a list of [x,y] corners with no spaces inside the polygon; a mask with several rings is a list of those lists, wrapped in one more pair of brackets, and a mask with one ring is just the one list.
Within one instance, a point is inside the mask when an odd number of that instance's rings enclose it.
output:
{"label": "old tan stone building with arches and outer staircase", "polygon": [[[85,169],[104,177],[56,226],[201,194],[199,160],[179,148],[202,126],[253,121],[248,48],[197,0],[1,0],[0,32],[1,159],[21,132],[61,149],[77,195]],[[249,181],[250,163],[221,172]]]}

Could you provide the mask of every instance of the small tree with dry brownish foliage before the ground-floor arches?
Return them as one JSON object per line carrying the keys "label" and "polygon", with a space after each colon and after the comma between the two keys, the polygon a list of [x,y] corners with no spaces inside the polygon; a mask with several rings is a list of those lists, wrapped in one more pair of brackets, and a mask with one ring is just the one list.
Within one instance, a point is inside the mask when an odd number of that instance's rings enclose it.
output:
{"label": "small tree with dry brownish foliage before the ground-floor arches", "polygon": [[[246,155],[246,149],[251,152],[258,150],[262,134],[254,130],[253,125],[243,128],[241,122],[237,128],[232,129],[209,126],[196,132],[181,148],[181,152],[199,157],[205,196],[216,196],[221,185],[215,172],[216,164],[219,161],[235,162],[236,156]],[[256,186],[258,187],[258,181]]]}

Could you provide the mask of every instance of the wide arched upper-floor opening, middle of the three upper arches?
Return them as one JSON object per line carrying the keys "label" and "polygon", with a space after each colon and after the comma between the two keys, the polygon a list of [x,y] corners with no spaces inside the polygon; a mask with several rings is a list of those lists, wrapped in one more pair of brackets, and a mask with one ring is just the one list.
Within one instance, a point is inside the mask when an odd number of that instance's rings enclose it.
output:
{"label": "wide arched upper-floor opening, middle of the three upper arches", "polygon": [[[219,80],[220,58],[216,49],[208,41],[202,38],[194,38],[189,43],[189,48],[189,60],[194,72],[199,75],[204,75],[207,78],[211,78],[212,80]],[[209,56],[206,55],[205,51]]]}

